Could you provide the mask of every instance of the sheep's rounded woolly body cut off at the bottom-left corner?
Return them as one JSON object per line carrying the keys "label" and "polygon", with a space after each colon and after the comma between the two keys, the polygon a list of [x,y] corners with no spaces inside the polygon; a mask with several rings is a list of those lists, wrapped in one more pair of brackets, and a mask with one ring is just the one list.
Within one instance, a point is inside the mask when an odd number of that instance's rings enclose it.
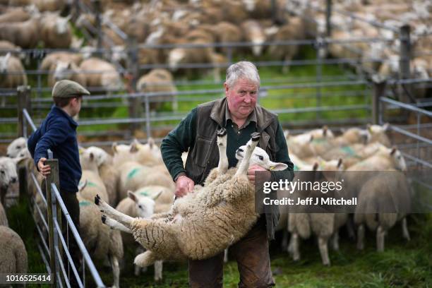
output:
{"label": "sheep's rounded woolly body cut off at the bottom-left corner", "polygon": [[0,226],[0,235],[0,274],[27,273],[28,258],[23,239],[6,226]]}

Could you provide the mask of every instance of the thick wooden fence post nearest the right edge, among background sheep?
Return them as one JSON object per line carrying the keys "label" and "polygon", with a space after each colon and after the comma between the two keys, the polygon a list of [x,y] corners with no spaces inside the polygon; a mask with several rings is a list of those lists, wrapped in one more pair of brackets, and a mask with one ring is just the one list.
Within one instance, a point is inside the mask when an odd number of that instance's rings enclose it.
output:
{"label": "thick wooden fence post nearest the right edge, among background sheep", "polygon": [[[410,62],[411,62],[411,39],[409,36],[411,28],[409,25],[403,25],[400,28],[400,56],[399,56],[399,73],[400,73],[400,79],[409,79],[411,77],[411,71],[410,71]],[[409,84],[403,84],[400,85],[400,102],[407,103],[409,102],[409,97],[407,97],[407,93],[412,95],[411,85]]]}

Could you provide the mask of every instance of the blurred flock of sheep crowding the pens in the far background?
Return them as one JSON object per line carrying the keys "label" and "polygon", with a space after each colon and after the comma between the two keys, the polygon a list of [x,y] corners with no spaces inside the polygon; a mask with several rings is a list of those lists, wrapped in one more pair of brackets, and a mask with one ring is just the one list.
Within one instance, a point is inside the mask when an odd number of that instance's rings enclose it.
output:
{"label": "blurred flock of sheep crowding the pens in the far background", "polygon": [[[92,6],[91,1],[82,0]],[[96,54],[96,41],[83,46],[83,39],[73,35],[73,27],[94,27],[95,13],[74,13],[66,1],[4,0],[0,1],[0,87],[13,88],[25,85],[28,78],[20,60],[20,49],[40,47],[73,48],[76,52],[52,52],[38,67],[49,75],[47,86],[56,80],[69,78],[86,88],[99,88],[100,92],[136,90],[142,92],[175,92],[172,73],[181,64],[214,64],[216,80],[220,80],[220,67],[227,56],[265,56],[277,61],[291,60],[301,49],[300,45],[265,45],[265,42],[304,40],[308,37],[325,37],[325,13],[316,8],[325,7],[323,0],[278,0],[275,20],[272,20],[271,1],[200,0],[200,1],[102,1],[102,56]],[[414,47],[413,78],[431,76],[431,9],[428,1],[333,1],[335,11],[350,11],[356,16],[375,20],[393,28],[404,23],[412,27]],[[3,4],[3,6],[1,6]],[[28,6],[25,6],[28,5]],[[284,11],[288,11],[285,13]],[[65,16],[66,15],[66,16]],[[314,19],[316,22],[311,22]],[[325,52],[336,58],[365,60],[361,65],[383,76],[397,78],[399,73],[400,40],[397,33],[375,28],[365,22],[353,20],[342,13],[332,14],[331,38],[344,40],[352,37],[385,37],[388,41],[330,44]],[[397,19],[397,20],[395,20]],[[128,42],[113,30],[113,25],[134,37],[138,42],[140,65],[166,64],[169,69],[150,71],[131,87],[124,80],[120,66],[130,61]],[[95,30],[88,34],[94,35]],[[223,42],[251,42],[250,47],[176,47],[179,44],[212,44]],[[168,44],[166,48],[143,45]],[[39,46],[38,46],[39,45]],[[9,51],[10,54],[7,52]],[[426,54],[422,54],[426,52]],[[270,57],[270,58],[269,58]],[[285,66],[286,71],[288,67]],[[186,75],[199,69],[182,68]],[[160,73],[162,71],[162,73]],[[154,72],[154,73],[152,73]],[[149,88],[150,87],[150,88]],[[151,88],[152,87],[152,88]],[[155,88],[157,87],[157,88]],[[424,90],[419,91],[424,95]],[[162,100],[172,100],[166,96]],[[154,109],[155,107],[152,107]]]}

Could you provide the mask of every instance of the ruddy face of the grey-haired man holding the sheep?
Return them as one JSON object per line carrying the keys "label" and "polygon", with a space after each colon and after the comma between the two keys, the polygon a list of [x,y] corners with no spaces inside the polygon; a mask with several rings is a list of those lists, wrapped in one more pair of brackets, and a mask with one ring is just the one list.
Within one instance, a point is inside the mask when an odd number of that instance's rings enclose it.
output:
{"label": "ruddy face of the grey-haired man holding the sheep", "polygon": [[229,113],[238,119],[246,119],[253,111],[258,98],[258,85],[251,80],[240,78],[234,86],[224,83]]}

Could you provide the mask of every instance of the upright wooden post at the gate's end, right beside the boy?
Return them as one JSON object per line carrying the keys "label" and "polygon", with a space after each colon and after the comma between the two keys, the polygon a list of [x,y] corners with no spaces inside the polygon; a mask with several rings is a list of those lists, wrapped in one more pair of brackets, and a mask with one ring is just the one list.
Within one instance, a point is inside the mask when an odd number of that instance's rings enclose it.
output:
{"label": "upright wooden post at the gate's end, right beside the boy", "polygon": [[[45,179],[46,191],[47,191],[47,218],[48,218],[48,239],[49,239],[49,265],[51,266],[51,271],[54,277],[54,283],[61,281],[57,279],[57,272],[59,272],[59,262],[56,261],[55,247],[59,245],[58,234],[56,229],[54,229],[54,220],[57,219],[57,209],[56,209],[56,197],[54,191],[52,191],[51,184],[56,184],[59,187],[59,160],[48,159],[45,162],[46,165],[51,167],[51,173],[47,175]],[[61,217],[57,219],[59,226],[61,227]],[[60,249],[61,251],[61,249]],[[61,259],[59,259],[60,261]]]}

